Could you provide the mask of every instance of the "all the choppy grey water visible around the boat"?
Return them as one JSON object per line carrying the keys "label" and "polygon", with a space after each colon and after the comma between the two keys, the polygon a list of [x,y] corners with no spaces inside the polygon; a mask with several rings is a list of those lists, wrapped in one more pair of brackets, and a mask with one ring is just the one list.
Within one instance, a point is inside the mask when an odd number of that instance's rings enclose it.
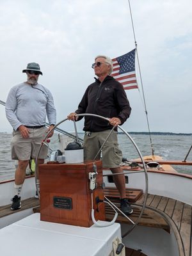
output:
{"label": "all the choppy grey water visible around the boat", "polygon": [[[81,138],[83,134],[79,135]],[[142,156],[152,154],[150,149],[150,140],[148,135],[134,134],[131,135],[132,139],[140,149]],[[15,161],[11,159],[10,140],[12,134],[0,132],[0,180],[8,180],[14,177]],[[57,146],[58,136],[54,134],[51,139],[50,147],[53,150],[58,149]],[[123,156],[128,160],[138,158],[138,152],[131,141],[125,134],[118,135],[120,148],[122,149]],[[188,153],[192,144],[192,136],[184,135],[153,135],[153,147],[155,154],[163,157],[164,160],[180,160],[183,161]],[[188,161],[192,161],[192,152],[188,156]],[[181,173],[188,173],[192,175],[191,166],[173,166],[175,170]]]}

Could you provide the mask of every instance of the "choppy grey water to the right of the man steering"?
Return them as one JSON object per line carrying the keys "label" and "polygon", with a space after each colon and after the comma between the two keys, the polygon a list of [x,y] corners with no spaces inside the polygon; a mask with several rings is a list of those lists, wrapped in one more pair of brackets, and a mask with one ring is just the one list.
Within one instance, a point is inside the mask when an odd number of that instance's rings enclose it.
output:
{"label": "choppy grey water to the right of the man steering", "polygon": [[[122,146],[123,156],[127,159],[138,158],[138,153],[130,141],[125,140],[125,135],[119,136],[119,143]],[[148,135],[132,135],[132,139],[138,146],[142,156],[152,155],[150,139]],[[164,160],[183,161],[188,154],[192,144],[192,136],[186,135],[153,135],[152,143],[154,154],[163,157]],[[187,158],[192,161],[192,150]],[[173,166],[177,172],[192,175],[192,166]]]}

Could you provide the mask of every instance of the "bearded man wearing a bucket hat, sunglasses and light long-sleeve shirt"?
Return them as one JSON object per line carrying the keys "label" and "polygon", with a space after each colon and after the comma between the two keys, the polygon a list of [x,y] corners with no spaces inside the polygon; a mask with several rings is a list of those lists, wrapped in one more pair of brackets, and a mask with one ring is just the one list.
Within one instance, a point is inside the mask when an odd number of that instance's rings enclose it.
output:
{"label": "bearded man wearing a bucket hat, sunglasses and light long-sleeve shirt", "polygon": [[[38,83],[42,75],[38,63],[28,63],[22,72],[27,74],[27,81],[13,86],[6,100],[6,118],[13,127],[12,159],[18,160],[15,170],[15,196],[12,198],[12,210],[20,208],[20,191],[26,177],[29,160],[36,159],[39,147],[45,135],[56,124],[56,109],[51,92]],[[49,128],[45,127],[46,115]],[[49,134],[51,137],[53,132]],[[38,156],[38,164],[47,158],[44,145]],[[37,173],[38,174],[38,173]]]}

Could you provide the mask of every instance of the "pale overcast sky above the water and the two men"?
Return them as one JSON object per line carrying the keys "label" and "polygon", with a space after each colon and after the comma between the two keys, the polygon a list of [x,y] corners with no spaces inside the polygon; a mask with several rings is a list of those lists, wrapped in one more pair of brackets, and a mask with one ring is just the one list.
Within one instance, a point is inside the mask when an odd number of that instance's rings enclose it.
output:
{"label": "pale overcast sky above the water and the two men", "polygon": [[[139,90],[125,131],[192,132],[192,1],[130,1],[138,45]],[[26,81],[22,70],[37,62],[57,110],[57,122],[74,112],[94,81],[95,56],[121,56],[135,48],[128,0],[0,0],[0,100]],[[141,86],[143,83],[143,89]],[[0,105],[0,132],[11,132]],[[60,125],[74,131],[73,122]],[[77,122],[81,131],[83,121]]]}

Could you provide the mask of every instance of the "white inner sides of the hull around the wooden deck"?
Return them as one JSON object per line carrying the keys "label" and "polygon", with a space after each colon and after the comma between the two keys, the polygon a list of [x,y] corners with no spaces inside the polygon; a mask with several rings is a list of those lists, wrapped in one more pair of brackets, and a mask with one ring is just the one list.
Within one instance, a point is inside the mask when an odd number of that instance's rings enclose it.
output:
{"label": "white inner sides of the hull around the wooden deck", "polygon": [[[127,172],[127,171],[126,171]],[[105,174],[111,173],[108,170]],[[132,173],[129,177],[127,188],[138,188],[145,191],[145,178],[143,173]],[[115,187],[104,177],[107,187]],[[35,196],[35,177],[28,177],[23,185],[21,196],[27,199]],[[188,193],[186,193],[188,191]],[[148,193],[160,196],[168,196],[186,204],[192,205],[192,176],[181,173],[148,172]],[[0,206],[11,204],[10,199],[14,195],[14,180],[0,183]]]}

